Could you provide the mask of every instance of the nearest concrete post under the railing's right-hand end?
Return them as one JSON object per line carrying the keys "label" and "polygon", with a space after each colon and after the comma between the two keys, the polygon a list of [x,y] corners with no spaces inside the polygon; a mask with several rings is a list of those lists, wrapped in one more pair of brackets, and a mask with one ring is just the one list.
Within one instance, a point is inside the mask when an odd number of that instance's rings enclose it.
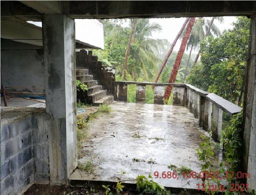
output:
{"label": "nearest concrete post under the railing's right-hand end", "polygon": [[220,109],[216,104],[214,104],[213,114],[212,114],[212,134],[211,137],[215,141],[220,141],[220,133],[222,129],[222,109]]}

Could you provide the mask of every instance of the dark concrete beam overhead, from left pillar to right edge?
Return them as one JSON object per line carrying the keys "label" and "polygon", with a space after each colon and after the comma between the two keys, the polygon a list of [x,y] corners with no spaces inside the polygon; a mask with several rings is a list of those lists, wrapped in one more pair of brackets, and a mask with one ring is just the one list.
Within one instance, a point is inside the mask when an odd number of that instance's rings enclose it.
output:
{"label": "dark concrete beam overhead, from left pillar to right edge", "polygon": [[74,18],[254,15],[255,1],[70,1]]}

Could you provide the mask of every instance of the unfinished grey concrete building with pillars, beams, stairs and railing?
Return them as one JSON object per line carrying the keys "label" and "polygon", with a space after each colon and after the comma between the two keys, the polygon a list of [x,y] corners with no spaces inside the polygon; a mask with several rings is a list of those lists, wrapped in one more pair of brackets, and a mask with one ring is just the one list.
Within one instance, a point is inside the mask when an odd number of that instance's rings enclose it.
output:
{"label": "unfinished grey concrete building with pillars, beams, stairs and railing", "polygon": [[[75,18],[229,15],[251,19],[243,102],[242,166],[251,175],[246,182],[250,189],[255,189],[255,1],[1,1],[1,85],[20,87],[6,88],[10,93],[45,94],[45,108],[40,105],[40,108],[4,107],[1,102],[0,193],[22,193],[33,183],[69,183],[77,166],[77,76],[91,87],[86,97],[91,103],[107,103],[113,98],[126,101],[128,84],[137,85],[136,102],[143,103],[145,85],[152,84],[116,82],[114,69],[102,67],[90,52],[81,50],[76,54],[75,48],[93,45],[75,39]],[[42,28],[26,21],[41,21]],[[85,63],[86,60],[90,62]],[[22,66],[24,63],[27,68]],[[81,70],[76,71],[76,66]],[[164,85],[168,83],[155,85],[156,104],[163,103]],[[216,140],[221,131],[222,112],[234,114],[241,109],[191,85],[172,85],[173,103],[189,108],[204,129],[213,124],[211,129]],[[30,89],[24,91],[22,87]]]}

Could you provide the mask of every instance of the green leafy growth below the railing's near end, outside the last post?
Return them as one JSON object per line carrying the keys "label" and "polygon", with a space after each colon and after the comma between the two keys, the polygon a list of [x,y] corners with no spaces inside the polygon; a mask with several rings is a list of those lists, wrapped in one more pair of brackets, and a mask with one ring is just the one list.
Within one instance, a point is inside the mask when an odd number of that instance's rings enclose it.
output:
{"label": "green leafy growth below the railing's near end, outside the last post", "polygon": [[231,124],[222,129],[224,160],[230,171],[237,172],[241,159],[242,112],[233,115]]}

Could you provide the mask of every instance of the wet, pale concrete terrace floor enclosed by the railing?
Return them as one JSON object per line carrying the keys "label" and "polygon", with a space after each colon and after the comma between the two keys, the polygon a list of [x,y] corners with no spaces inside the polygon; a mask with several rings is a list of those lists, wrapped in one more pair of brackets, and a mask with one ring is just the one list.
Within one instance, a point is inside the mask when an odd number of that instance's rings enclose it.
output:
{"label": "wet, pale concrete terrace floor enclosed by the railing", "polygon": [[[78,162],[91,160],[94,172],[88,174],[76,169],[70,179],[116,181],[121,170],[126,172],[122,179],[134,179],[148,173],[153,176],[154,171],[159,174],[172,171],[168,164],[184,165],[200,172],[201,162],[195,149],[201,142],[200,135],[209,135],[186,107],[124,102],[110,106],[111,113],[89,122],[89,137],[79,154]],[[141,137],[134,137],[135,133]],[[141,161],[134,162],[133,158]],[[150,159],[155,163],[148,163]],[[153,180],[182,188],[197,188],[196,183],[201,183],[201,179],[183,179],[181,175],[178,179]]]}

